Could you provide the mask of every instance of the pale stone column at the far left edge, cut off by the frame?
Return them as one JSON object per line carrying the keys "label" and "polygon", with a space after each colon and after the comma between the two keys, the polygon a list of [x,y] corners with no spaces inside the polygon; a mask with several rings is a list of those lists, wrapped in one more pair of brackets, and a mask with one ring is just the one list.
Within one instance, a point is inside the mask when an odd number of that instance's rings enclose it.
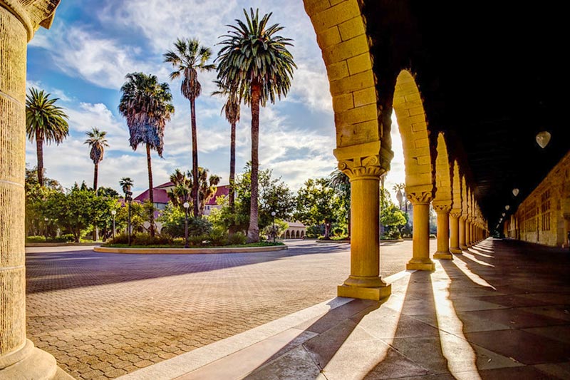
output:
{"label": "pale stone column at the far left edge, cut off by the frame", "polygon": [[26,339],[26,48],[59,0],[0,0],[0,379],[71,379]]}

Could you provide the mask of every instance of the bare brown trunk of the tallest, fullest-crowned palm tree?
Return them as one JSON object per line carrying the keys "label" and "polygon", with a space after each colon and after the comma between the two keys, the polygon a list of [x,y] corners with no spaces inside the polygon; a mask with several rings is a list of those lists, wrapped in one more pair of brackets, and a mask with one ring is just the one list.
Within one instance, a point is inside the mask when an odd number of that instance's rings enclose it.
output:
{"label": "bare brown trunk of the tallest, fullest-crowned palm tree", "polygon": [[247,229],[248,242],[259,242],[259,225],[257,224],[258,204],[257,193],[259,188],[259,95],[261,86],[252,83],[252,201],[249,205],[249,228]]}

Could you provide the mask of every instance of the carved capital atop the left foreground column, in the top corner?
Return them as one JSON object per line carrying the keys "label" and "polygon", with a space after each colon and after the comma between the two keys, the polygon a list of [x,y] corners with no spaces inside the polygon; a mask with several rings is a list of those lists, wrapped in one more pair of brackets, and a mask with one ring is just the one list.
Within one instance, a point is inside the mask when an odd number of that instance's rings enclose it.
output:
{"label": "carved capital atop the left foreground column, in the top corner", "polygon": [[20,20],[28,41],[33,38],[33,34],[40,26],[50,29],[53,17],[56,16],[56,8],[61,0],[0,0],[0,6],[7,9]]}

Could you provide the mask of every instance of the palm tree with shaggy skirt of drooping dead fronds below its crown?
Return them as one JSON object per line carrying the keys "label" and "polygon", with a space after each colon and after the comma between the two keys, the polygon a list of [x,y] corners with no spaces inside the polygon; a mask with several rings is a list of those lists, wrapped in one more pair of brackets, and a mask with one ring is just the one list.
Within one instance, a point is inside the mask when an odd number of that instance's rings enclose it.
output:
{"label": "palm tree with shaggy skirt of drooping dead fronds below its crown", "polygon": [[[147,148],[148,194],[150,203],[154,204],[152,194],[152,165],[150,149],[157,151],[162,157],[166,121],[174,113],[172,93],[168,83],[158,83],[156,76],[145,73],[130,73],[127,81],[120,88],[119,111],[127,119],[130,133],[130,146],[137,150],[138,144],[144,143]],[[150,235],[155,235],[154,212],[150,212]]]}

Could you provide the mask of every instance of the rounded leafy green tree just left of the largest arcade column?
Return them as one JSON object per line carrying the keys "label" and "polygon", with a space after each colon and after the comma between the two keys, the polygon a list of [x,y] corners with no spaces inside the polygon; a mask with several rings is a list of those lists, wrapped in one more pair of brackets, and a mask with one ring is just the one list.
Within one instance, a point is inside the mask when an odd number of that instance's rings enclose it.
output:
{"label": "rounded leafy green tree just left of the largest arcade column", "polygon": [[338,219],[341,198],[325,178],[306,180],[297,192],[295,219],[304,225],[324,225],[324,238],[329,239],[331,225]]}

